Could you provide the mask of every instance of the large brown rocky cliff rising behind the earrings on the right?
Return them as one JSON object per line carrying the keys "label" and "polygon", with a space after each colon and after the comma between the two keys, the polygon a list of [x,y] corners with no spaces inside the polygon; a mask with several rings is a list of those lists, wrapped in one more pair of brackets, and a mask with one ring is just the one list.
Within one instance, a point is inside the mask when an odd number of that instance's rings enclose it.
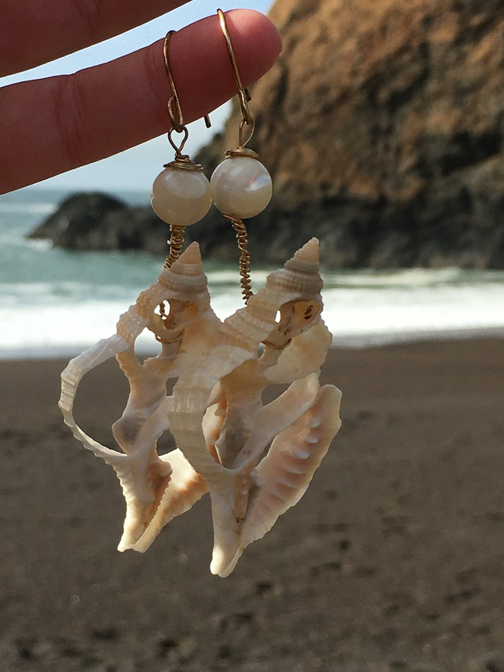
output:
{"label": "large brown rocky cliff rising behind the earrings on the right", "polygon": [[[502,0],[278,0],[284,50],[252,89],[274,200],[255,261],[321,239],[333,267],[504,267]],[[202,150],[237,144],[235,109]],[[235,259],[218,212],[187,232]]]}

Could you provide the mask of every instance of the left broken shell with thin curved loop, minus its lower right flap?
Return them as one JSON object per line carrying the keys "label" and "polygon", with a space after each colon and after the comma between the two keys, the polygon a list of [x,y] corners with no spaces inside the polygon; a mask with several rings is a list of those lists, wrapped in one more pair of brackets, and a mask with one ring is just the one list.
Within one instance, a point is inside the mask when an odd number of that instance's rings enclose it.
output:
{"label": "left broken shell with thin curved loop, minus its lower right flap", "polygon": [[[154,312],[162,301],[172,304],[169,329]],[[194,306],[194,310],[189,311],[187,319],[188,305]],[[198,244],[192,243],[171,269],[165,269],[157,283],[142,292],[136,304],[120,317],[116,335],[71,360],[62,372],[59,405],[65,423],[85,448],[116,470],[122,486],[126,519],[119,550],[131,548],[140,538],[170,480],[171,466],[156,451],[157,440],[169,426],[167,379],[177,376],[183,368],[192,370],[198,366],[210,351],[219,326],[220,321],[210,308]],[[134,343],[145,327],[173,342],[165,343],[156,358],[142,365],[136,359]],[[112,427],[123,453],[95,442],[73,418],[79,382],[89,370],[114,355],[130,383],[126,409]]]}

